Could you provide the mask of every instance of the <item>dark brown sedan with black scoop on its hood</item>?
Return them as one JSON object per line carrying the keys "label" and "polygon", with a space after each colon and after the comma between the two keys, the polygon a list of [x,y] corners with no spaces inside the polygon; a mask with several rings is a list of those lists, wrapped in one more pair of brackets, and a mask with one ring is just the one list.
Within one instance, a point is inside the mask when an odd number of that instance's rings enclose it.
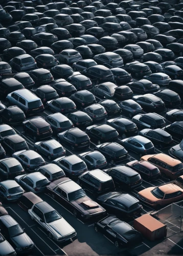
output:
{"label": "dark brown sedan with black scoop on its hood", "polygon": [[[57,192],[59,190],[59,194]],[[62,194],[61,194],[62,192]],[[61,178],[47,186],[47,193],[64,207],[73,212],[75,217],[92,219],[105,216],[106,210],[86,196],[84,190],[74,181]],[[65,193],[65,196],[63,196]]]}

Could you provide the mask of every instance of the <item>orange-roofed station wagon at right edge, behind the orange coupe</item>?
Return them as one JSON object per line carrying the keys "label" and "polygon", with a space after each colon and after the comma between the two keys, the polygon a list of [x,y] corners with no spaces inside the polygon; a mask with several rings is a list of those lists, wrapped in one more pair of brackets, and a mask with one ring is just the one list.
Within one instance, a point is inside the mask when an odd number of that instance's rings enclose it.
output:
{"label": "orange-roofed station wagon at right edge, behind the orange coupe", "polygon": [[183,174],[182,162],[166,154],[146,155],[141,157],[141,160],[148,161],[157,166],[162,177],[168,177],[171,180],[175,180],[178,176]]}

